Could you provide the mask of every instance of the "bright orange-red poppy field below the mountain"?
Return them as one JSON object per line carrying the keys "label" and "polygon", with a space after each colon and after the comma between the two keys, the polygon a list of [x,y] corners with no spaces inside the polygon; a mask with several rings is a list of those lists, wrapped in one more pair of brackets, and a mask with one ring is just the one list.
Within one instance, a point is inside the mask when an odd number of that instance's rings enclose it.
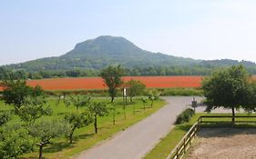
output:
{"label": "bright orange-red poppy field below the mountain", "polygon": [[[148,88],[173,88],[173,87],[200,87],[202,76],[126,76],[123,80],[139,80]],[[83,90],[106,89],[102,78],[52,78],[42,80],[29,80],[28,85],[43,87],[45,90]]]}

